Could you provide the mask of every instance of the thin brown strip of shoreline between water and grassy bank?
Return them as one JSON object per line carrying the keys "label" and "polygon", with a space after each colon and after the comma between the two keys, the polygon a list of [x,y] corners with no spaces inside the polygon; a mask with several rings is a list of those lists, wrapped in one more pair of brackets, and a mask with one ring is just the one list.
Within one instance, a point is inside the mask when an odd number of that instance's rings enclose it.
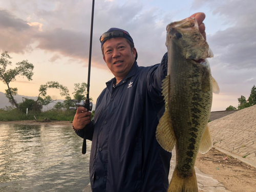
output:
{"label": "thin brown strip of shoreline between water and grassy bank", "polygon": [[36,121],[36,120],[23,120],[23,121],[0,121],[1,124],[24,124],[24,125],[61,125],[71,126],[72,121]]}

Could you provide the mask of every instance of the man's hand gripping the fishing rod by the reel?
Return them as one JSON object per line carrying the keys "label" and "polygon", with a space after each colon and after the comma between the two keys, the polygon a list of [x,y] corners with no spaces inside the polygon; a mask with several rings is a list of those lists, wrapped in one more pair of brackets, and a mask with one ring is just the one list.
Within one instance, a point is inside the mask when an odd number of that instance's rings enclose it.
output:
{"label": "man's hand gripping the fishing rod by the reel", "polygon": [[89,112],[86,108],[80,106],[76,110],[75,117],[73,119],[73,126],[76,130],[83,129],[87,124],[91,122],[92,113]]}

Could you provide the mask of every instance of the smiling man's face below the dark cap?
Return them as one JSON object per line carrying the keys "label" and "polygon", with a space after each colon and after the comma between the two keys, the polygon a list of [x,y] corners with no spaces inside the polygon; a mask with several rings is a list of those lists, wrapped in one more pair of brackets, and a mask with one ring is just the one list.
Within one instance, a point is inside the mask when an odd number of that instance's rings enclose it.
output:
{"label": "smiling man's face below the dark cap", "polygon": [[136,49],[123,37],[106,40],[103,44],[103,59],[116,78],[124,78],[135,61]]}

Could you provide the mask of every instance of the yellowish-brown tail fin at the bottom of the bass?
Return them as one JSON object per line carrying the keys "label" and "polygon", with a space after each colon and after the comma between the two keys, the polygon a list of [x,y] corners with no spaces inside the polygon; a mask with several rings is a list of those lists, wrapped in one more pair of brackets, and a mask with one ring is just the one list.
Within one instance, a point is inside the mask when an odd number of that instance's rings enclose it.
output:
{"label": "yellowish-brown tail fin at the bottom of the bass", "polygon": [[178,169],[175,167],[172,180],[170,181],[167,192],[198,192],[197,177],[195,169],[192,176],[182,178],[178,176]]}

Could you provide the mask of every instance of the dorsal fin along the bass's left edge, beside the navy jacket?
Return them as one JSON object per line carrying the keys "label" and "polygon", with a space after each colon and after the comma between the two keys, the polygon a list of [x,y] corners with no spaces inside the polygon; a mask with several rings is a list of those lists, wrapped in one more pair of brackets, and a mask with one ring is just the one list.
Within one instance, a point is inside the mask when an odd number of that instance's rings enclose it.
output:
{"label": "dorsal fin along the bass's left edge, beside the navy jacket", "polygon": [[169,98],[170,76],[167,75],[162,83],[162,94],[165,100],[165,112],[159,120],[156,131],[156,139],[158,143],[167,152],[171,152],[176,143],[176,138],[173,131],[172,122],[170,121],[168,98]]}

